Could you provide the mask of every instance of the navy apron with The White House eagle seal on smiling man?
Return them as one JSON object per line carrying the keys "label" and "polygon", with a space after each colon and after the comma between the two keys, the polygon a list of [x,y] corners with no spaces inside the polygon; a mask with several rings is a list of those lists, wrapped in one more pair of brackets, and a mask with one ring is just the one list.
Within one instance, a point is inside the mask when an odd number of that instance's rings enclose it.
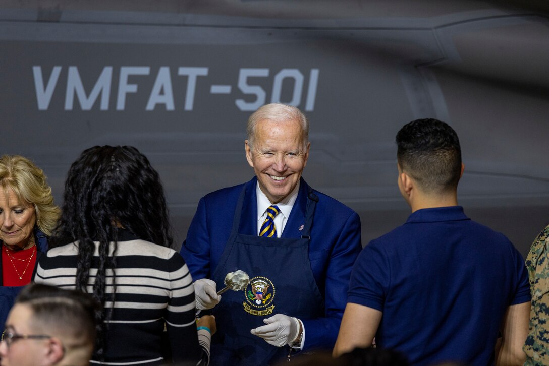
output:
{"label": "navy apron with The White House eagle seal on smiling man", "polygon": [[225,292],[212,311],[218,331],[212,339],[212,366],[276,363],[288,355],[289,346],[272,346],[252,335],[251,329],[265,325],[263,319],[277,313],[298,319],[324,316],[324,299],[309,261],[309,239],[317,196],[309,188],[301,238],[239,234],[244,196],[245,187],[240,192],[231,235],[213,280],[221,289],[225,287],[226,274],[240,269],[248,273],[250,284],[245,291]]}

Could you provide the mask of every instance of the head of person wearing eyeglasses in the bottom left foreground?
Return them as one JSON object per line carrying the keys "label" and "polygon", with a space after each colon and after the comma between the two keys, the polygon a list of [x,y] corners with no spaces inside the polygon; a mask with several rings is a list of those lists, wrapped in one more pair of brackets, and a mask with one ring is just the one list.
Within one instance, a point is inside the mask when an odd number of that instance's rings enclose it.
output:
{"label": "head of person wearing eyeglasses in the bottom left foreground", "polygon": [[97,309],[97,302],[80,291],[27,286],[6,320],[0,365],[89,365]]}

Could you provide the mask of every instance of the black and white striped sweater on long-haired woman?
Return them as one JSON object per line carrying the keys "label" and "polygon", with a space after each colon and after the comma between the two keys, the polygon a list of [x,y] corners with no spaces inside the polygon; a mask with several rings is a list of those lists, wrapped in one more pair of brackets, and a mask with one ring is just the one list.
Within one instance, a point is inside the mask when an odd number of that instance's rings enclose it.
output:
{"label": "black and white striped sweater on long-haired woman", "polygon": [[[89,293],[97,274],[98,245],[90,269]],[[111,243],[111,254],[113,248]],[[77,242],[50,249],[38,263],[35,282],[74,289],[77,253]],[[161,336],[166,329],[174,362],[208,364],[211,336],[207,330],[197,332],[193,280],[181,255],[136,239],[118,241],[115,256],[116,297],[107,324],[105,359],[91,362],[162,364]],[[113,308],[112,284],[113,271],[108,270],[105,308]]]}

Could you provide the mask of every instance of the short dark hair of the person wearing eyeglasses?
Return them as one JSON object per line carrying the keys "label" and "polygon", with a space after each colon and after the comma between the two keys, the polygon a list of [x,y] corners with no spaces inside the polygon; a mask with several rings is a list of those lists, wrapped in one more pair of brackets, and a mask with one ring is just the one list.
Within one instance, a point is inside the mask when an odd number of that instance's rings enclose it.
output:
{"label": "short dark hair of the person wearing eyeglasses", "polygon": [[30,307],[32,324],[51,332],[49,335],[81,340],[83,345],[93,347],[100,305],[91,296],[77,290],[31,284],[21,290],[15,304]]}

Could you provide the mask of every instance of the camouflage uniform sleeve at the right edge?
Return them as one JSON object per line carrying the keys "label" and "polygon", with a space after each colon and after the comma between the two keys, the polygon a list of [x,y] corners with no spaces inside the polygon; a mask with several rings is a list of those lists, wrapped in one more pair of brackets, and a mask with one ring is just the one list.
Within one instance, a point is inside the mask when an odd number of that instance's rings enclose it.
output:
{"label": "camouflage uniform sleeve at the right edge", "polygon": [[532,305],[525,365],[549,364],[549,226],[534,240],[526,257]]}

